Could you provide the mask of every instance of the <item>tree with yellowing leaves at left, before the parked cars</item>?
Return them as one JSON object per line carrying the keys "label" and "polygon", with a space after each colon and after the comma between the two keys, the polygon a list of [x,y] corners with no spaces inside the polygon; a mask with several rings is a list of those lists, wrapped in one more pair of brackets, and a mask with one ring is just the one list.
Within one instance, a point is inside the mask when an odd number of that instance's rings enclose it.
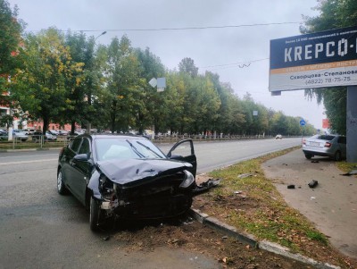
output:
{"label": "tree with yellowing leaves at left, before the parked cars", "polygon": [[54,28],[29,34],[19,58],[23,68],[12,80],[12,96],[30,119],[44,122],[45,133],[48,124],[59,121],[67,110],[66,81],[76,77],[83,64],[71,61],[64,37]]}

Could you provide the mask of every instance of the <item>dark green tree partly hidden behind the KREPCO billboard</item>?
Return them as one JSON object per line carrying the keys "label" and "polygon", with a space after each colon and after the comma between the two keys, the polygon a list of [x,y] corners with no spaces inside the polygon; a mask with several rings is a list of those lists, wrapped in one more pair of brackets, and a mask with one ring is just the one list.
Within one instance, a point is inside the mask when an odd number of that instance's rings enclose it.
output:
{"label": "dark green tree partly hidden behind the KREPCO billboard", "polygon": [[[304,16],[303,34],[354,26],[357,21],[357,2],[355,0],[321,0],[316,7],[320,16]],[[305,90],[307,97],[317,97],[318,103],[325,105],[331,129],[338,133],[346,132],[346,88],[319,88]],[[338,104],[338,106],[336,105]],[[336,108],[339,109],[336,109]],[[341,109],[341,107],[343,109]]]}

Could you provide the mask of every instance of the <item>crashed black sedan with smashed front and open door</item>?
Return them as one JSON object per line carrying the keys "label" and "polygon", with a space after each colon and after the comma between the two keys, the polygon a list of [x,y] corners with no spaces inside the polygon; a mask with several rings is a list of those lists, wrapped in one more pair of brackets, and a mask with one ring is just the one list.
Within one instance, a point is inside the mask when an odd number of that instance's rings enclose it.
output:
{"label": "crashed black sedan with smashed front and open door", "polygon": [[63,147],[57,190],[70,191],[89,211],[98,230],[113,217],[167,218],[184,214],[197,191],[196,157],[191,139],[165,155],[143,137],[79,135]]}

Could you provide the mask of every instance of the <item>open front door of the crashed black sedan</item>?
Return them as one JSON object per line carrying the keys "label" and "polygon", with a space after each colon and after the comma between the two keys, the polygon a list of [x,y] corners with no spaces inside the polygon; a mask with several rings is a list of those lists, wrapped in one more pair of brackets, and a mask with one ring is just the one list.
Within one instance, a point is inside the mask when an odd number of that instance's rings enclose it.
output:
{"label": "open front door of the crashed black sedan", "polygon": [[189,172],[195,176],[197,170],[197,160],[195,157],[194,142],[192,139],[185,139],[176,143],[169,151],[167,156],[172,160],[185,161],[192,164]]}

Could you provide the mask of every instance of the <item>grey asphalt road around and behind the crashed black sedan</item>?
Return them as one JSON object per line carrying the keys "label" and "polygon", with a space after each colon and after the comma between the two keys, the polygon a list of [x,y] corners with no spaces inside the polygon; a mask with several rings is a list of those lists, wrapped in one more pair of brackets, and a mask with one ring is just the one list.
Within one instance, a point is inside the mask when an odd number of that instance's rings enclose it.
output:
{"label": "grey asphalt road around and behind the crashed black sedan", "polygon": [[[301,139],[195,143],[197,172],[293,147]],[[167,153],[168,145],[159,145]],[[0,153],[0,268],[220,268],[210,256],[156,248],[128,255],[89,230],[88,214],[56,191],[58,149]],[[149,235],[148,235],[149,236]],[[193,258],[195,257],[195,258]]]}

